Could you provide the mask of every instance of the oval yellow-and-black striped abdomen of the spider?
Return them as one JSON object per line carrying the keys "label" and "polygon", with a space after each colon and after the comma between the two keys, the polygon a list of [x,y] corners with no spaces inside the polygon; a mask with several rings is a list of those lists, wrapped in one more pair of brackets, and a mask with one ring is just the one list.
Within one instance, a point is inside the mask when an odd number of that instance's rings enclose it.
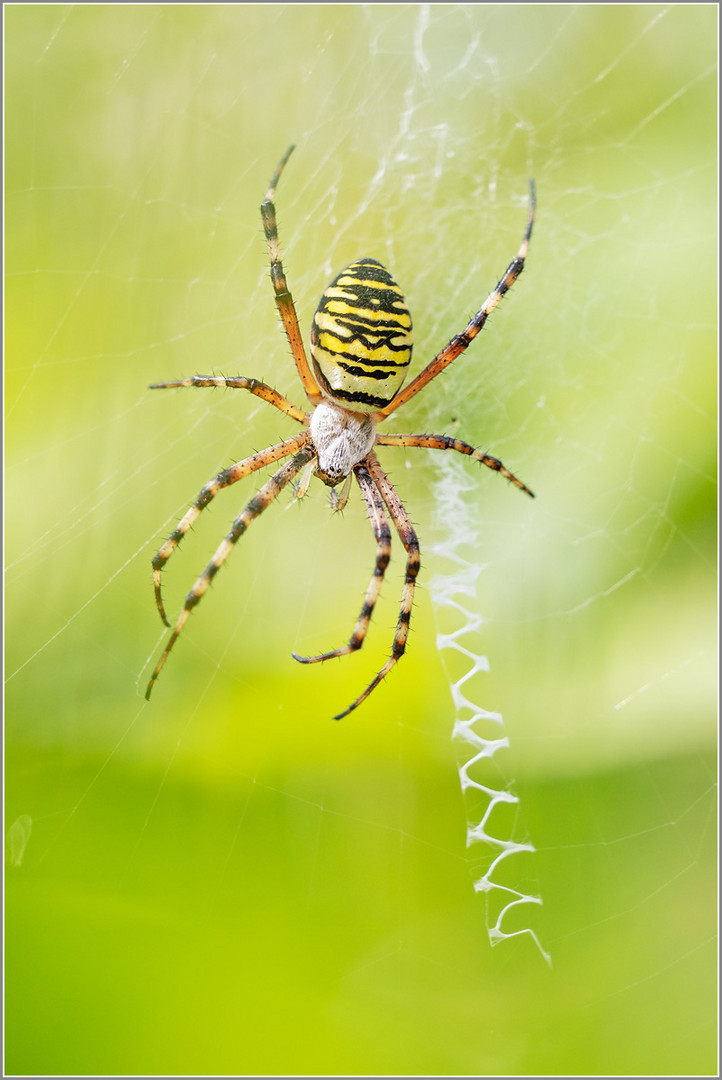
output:
{"label": "oval yellow-and-black striped abdomen of the spider", "polygon": [[354,413],[374,413],[395,396],[412,343],[404,294],[376,259],[358,259],[333,279],[311,325],[318,384]]}

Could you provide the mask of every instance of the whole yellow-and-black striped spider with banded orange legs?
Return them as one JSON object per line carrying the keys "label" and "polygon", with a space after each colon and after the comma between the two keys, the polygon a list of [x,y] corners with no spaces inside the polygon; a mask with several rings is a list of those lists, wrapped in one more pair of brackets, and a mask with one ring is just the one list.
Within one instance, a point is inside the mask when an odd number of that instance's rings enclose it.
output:
{"label": "whole yellow-and-black striped spider with banded orange legs", "polygon": [[[366,689],[342,713],[339,720],[357,708],[400,660],[406,649],[413,603],[413,589],[420,568],[419,540],[398,495],[376,455],[377,446],[421,446],[435,450],[457,450],[488,465],[533,498],[533,492],[517,480],[498,458],[482,454],[468,443],[449,435],[382,434],[377,424],[414,397],[420,390],[449,366],[474,340],[488,316],[523,270],[534,221],[535,191],[530,181],[529,217],[519,252],[507,267],[494,291],[487,297],[465,329],[457,334],[432,362],[401,390],[411,361],[413,341],[411,315],[404,295],[391,274],[376,259],[363,258],[348,266],[331,282],[321,298],[311,324],[311,364],[306,360],[299,330],[294,298],[281,261],[274,199],[281,174],[294,150],[289,147],[273,174],[261,203],[261,218],[271,259],[271,282],[278,314],[288,338],[305,395],[313,406],[310,413],[298,408],[276,390],[258,379],[234,376],[194,375],[173,382],[156,382],[151,390],[175,387],[229,387],[247,390],[301,424],[291,438],[251,454],[243,461],[223,469],[201,489],[197,499],[180,519],[152,561],[155,603],[161,618],[169,626],[161,598],[161,572],[202,510],[223,487],[284,458],[283,464],[256,492],[233,522],[215,555],[197,579],[150,677],[146,698],[186,625],[193,608],[201,602],[212,581],[248,526],[295,477],[296,498],[305,495],[312,475],[332,490],[331,507],[341,510],[351,489],[352,476],[360,488],[376,539],[376,565],[360,613],[349,643],[315,657],[299,657],[303,664],[322,663],[333,657],[360,649],[366,638],[384,572],[391,556],[389,517],[406,549],[406,576],[400,612],[394,633],[391,656]],[[342,484],[340,494],[333,490]]]}

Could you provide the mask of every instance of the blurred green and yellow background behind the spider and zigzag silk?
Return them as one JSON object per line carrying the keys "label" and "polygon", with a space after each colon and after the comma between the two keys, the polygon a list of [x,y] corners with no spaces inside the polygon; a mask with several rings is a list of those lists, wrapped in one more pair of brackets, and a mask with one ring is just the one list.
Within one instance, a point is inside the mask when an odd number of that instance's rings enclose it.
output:
{"label": "blurred green and yellow background behind the spider and zigzag silk", "polygon": [[[693,1074],[716,1069],[713,5],[15,5],[6,60],[6,1070]],[[418,524],[411,648],[369,701],[373,544],[314,482],[244,537],[148,705],[150,558],[299,404],[258,206],[304,329],[381,258],[416,364],[516,252],[481,338],[393,430],[501,456],[384,462]],[[418,368],[416,368],[418,369]],[[444,483],[441,483],[444,481]],[[253,483],[167,569],[182,603]],[[459,496],[459,498],[452,498]],[[457,503],[461,503],[461,510]],[[455,508],[455,509],[453,509]],[[453,514],[452,514],[453,510]],[[437,631],[440,544],[489,657],[539,894],[490,948]],[[462,550],[462,549],[460,549]],[[442,582],[441,582],[442,583]],[[467,688],[468,689],[468,688]],[[493,853],[492,853],[493,854]]]}

